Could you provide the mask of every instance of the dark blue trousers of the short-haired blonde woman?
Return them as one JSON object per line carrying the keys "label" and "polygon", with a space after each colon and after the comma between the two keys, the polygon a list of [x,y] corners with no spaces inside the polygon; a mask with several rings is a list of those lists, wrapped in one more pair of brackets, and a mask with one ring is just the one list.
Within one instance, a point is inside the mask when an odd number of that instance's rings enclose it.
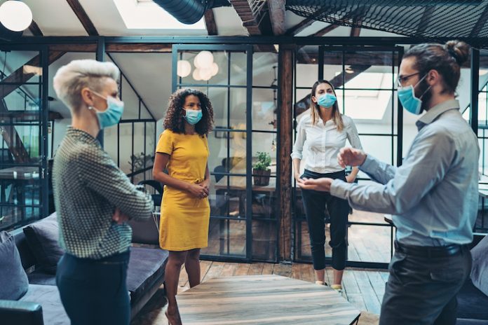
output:
{"label": "dark blue trousers of the short-haired blonde woman", "polygon": [[129,324],[129,255],[127,251],[102,260],[62,256],[56,284],[72,325]]}

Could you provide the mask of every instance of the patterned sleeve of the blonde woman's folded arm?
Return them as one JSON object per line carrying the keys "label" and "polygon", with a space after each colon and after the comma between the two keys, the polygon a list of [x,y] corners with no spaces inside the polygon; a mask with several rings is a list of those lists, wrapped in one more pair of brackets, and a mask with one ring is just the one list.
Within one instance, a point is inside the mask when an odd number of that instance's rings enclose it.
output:
{"label": "patterned sleeve of the blonde woman's folded arm", "polygon": [[88,148],[80,152],[78,158],[79,177],[88,188],[107,199],[130,219],[152,216],[154,203],[151,195],[137,191],[107,153]]}

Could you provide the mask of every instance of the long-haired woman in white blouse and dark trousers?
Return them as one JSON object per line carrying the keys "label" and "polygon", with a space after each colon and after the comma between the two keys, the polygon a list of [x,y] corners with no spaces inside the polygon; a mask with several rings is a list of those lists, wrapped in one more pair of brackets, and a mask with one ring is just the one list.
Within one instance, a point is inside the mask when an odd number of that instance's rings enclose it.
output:
{"label": "long-haired woman in white blouse and dark trousers", "polygon": [[[362,149],[358,130],[352,118],[342,115],[337,105],[334,87],[329,81],[320,80],[311,91],[311,113],[298,123],[292,159],[294,178],[300,184],[304,179],[329,177],[352,183],[358,174],[354,167],[346,176],[344,168],[337,163],[339,150],[349,143]],[[305,172],[300,175],[300,161],[304,144],[308,146]],[[332,289],[341,290],[342,275],[346,263],[346,225],[349,212],[347,200],[336,198],[327,192],[301,189],[306,220],[309,224],[310,247],[316,283],[325,284],[325,209],[330,216],[330,247],[334,283]]]}

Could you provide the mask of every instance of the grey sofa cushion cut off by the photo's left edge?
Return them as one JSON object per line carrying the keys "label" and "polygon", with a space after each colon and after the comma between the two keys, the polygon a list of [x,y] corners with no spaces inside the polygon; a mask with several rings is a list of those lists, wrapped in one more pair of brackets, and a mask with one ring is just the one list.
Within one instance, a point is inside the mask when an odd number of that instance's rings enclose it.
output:
{"label": "grey sofa cushion cut off by the photo's left edge", "polygon": [[0,299],[18,300],[29,288],[13,236],[0,232]]}

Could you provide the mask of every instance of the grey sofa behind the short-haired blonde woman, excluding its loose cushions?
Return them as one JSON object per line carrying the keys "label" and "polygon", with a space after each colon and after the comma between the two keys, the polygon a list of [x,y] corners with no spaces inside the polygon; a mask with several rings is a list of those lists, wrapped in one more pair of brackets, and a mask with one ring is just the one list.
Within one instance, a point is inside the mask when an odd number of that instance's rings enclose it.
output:
{"label": "grey sofa behind the short-haired blonde woman, excluding its loose cushions", "polygon": [[[38,221],[38,222],[42,222]],[[134,227],[134,238],[147,237],[154,232],[147,222]],[[154,224],[152,225],[154,226]],[[36,258],[32,254],[22,228],[14,230],[15,245],[20,253],[22,267],[27,272],[29,287],[20,300],[0,300],[0,323],[2,325],[69,325],[55,275],[36,270]],[[164,282],[168,251],[147,247],[132,247],[128,265],[127,286],[132,317],[135,317],[151,296]]]}

